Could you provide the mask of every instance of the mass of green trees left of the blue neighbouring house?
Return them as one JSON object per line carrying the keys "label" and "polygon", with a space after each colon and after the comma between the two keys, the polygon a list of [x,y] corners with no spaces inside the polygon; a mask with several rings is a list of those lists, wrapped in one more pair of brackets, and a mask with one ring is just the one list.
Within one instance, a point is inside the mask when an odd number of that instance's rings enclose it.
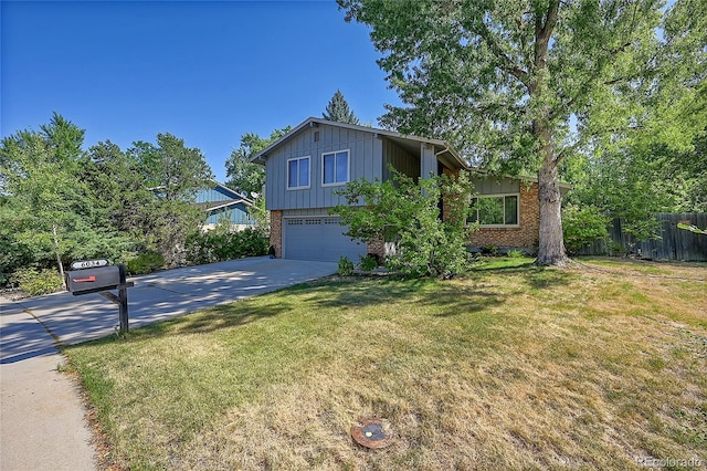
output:
{"label": "mass of green trees left of the blue neighbouring house", "polygon": [[[54,113],[40,130],[0,145],[0,283],[20,266],[86,258],[123,260],[159,251],[176,263],[203,212],[194,193],[210,185],[201,151],[159,134],[123,151],[109,140],[84,150],[84,130]],[[7,252],[7,254],[4,253]]]}

